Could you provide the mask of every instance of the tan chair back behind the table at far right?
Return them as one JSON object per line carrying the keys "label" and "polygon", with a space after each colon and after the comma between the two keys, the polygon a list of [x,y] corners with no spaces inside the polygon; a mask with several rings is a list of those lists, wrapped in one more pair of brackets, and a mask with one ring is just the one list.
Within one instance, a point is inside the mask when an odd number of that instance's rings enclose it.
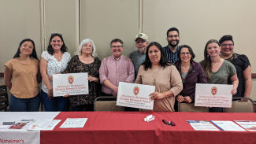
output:
{"label": "tan chair back behind the table at far right", "polygon": [[254,113],[254,101],[250,98],[236,97],[232,100],[249,99],[250,102],[232,102],[232,108],[224,108],[224,113]]}

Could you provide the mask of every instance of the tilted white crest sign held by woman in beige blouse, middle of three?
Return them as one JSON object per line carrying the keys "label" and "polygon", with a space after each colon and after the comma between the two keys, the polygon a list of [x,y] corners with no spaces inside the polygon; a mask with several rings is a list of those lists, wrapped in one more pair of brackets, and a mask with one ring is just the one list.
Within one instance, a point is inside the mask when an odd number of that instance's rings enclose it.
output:
{"label": "tilted white crest sign held by woman in beige blouse, middle of three", "polygon": [[151,101],[149,95],[154,89],[154,86],[119,82],[117,105],[153,110],[154,100]]}

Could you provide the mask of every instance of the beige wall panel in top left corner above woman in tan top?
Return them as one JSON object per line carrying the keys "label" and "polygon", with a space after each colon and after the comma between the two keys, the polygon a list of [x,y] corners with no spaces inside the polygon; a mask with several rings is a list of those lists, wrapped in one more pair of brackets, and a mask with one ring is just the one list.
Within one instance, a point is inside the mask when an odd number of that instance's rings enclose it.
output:
{"label": "beige wall panel in top left corner above woman in tan top", "polygon": [[39,0],[0,1],[0,72],[13,58],[23,39],[32,39],[41,54]]}

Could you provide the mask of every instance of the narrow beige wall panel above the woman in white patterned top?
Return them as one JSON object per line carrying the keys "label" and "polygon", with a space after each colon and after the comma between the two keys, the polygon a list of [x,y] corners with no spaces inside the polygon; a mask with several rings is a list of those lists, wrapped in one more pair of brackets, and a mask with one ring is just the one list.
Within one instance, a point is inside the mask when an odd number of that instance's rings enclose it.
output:
{"label": "narrow beige wall panel above the woman in white patterned top", "polygon": [[62,34],[68,52],[76,50],[76,1],[45,0],[46,48],[52,33]]}

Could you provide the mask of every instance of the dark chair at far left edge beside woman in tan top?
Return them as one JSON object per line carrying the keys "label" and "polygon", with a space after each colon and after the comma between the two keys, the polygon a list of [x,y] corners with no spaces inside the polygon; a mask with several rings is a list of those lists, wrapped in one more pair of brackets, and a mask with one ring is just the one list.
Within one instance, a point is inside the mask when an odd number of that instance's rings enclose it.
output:
{"label": "dark chair at far left edge beside woman in tan top", "polygon": [[4,109],[7,111],[8,106],[9,101],[6,84],[0,83],[0,110]]}

